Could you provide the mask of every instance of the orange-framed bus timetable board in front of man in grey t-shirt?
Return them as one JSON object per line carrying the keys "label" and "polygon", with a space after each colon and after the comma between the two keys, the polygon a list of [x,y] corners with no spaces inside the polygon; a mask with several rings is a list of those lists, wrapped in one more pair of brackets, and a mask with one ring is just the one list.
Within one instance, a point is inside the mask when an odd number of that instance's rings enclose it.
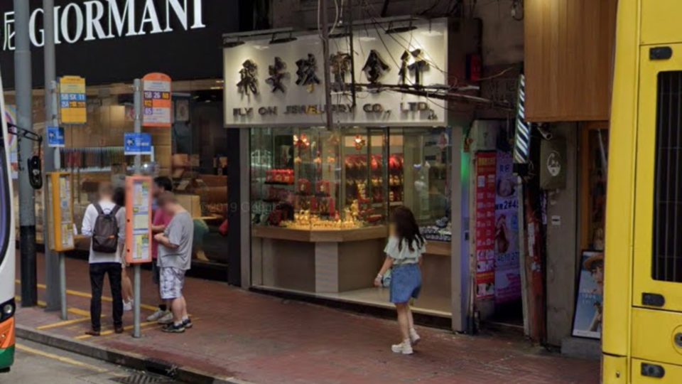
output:
{"label": "orange-framed bus timetable board in front of man in grey t-shirt", "polygon": [[126,177],[126,262],[151,262],[151,184],[148,176]]}

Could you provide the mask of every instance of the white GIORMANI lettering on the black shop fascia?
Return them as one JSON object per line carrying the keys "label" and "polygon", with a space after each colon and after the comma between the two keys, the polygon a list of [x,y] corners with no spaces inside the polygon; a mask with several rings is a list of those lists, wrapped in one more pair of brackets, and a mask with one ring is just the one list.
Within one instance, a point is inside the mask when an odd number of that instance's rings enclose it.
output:
{"label": "white GIORMANI lettering on the black shop fascia", "polygon": [[[28,0],[26,0],[28,1]],[[203,0],[90,0],[55,6],[55,43],[72,44],[206,28]],[[31,12],[33,46],[45,44],[42,8]],[[3,50],[15,48],[15,15],[2,18]]]}

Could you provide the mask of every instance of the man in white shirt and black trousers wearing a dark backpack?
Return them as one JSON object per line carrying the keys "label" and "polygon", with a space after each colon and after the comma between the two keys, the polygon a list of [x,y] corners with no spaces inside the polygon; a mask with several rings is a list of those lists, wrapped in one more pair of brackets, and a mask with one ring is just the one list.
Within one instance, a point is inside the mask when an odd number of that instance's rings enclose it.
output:
{"label": "man in white shirt and black trousers wearing a dark backpack", "polygon": [[91,238],[90,244],[90,321],[92,329],[86,334],[99,336],[102,331],[102,286],[104,275],[109,275],[112,287],[114,331],[123,333],[123,297],[121,295],[121,251],[124,249],[126,212],[112,200],[114,189],[110,183],[99,186],[99,201],[90,204],[83,216],[82,234]]}

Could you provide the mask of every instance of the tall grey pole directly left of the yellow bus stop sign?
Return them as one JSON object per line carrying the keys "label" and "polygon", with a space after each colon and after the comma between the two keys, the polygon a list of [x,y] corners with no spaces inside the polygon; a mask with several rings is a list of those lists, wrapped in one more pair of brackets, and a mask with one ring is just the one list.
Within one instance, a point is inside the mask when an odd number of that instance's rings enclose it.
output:
{"label": "tall grey pole directly left of the yellow bus stop sign", "polygon": [[[55,109],[56,106],[53,105],[53,93],[55,88],[53,88],[53,81],[56,77],[55,68],[55,3],[54,0],[43,0],[43,10],[44,12],[44,30],[45,30],[45,132],[47,132],[47,127],[55,127]],[[55,149],[50,148],[48,140],[43,142],[43,171],[45,172],[45,177],[47,177],[48,172],[55,171]],[[44,183],[47,185],[47,182]],[[43,193],[43,243],[45,244],[45,284],[47,285],[46,302],[47,311],[57,311],[60,309],[60,287],[59,281],[59,253],[52,252],[49,240],[49,230],[47,228],[47,223],[50,223],[49,217],[52,215],[52,210],[50,210],[50,196],[47,193]],[[55,218],[56,219],[56,218]]]}

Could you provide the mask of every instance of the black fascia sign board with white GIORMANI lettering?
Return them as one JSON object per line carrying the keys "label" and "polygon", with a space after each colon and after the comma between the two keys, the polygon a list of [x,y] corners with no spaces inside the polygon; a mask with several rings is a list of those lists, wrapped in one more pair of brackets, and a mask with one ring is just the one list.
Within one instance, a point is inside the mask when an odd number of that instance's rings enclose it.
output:
{"label": "black fascia sign board with white GIORMANI lettering", "polygon": [[[30,1],[33,83],[43,86],[43,1]],[[58,75],[88,85],[131,82],[163,72],[173,80],[221,78],[222,33],[239,31],[247,0],[55,0]],[[0,68],[13,87],[16,18],[0,6]],[[248,26],[247,26],[248,27]]]}

